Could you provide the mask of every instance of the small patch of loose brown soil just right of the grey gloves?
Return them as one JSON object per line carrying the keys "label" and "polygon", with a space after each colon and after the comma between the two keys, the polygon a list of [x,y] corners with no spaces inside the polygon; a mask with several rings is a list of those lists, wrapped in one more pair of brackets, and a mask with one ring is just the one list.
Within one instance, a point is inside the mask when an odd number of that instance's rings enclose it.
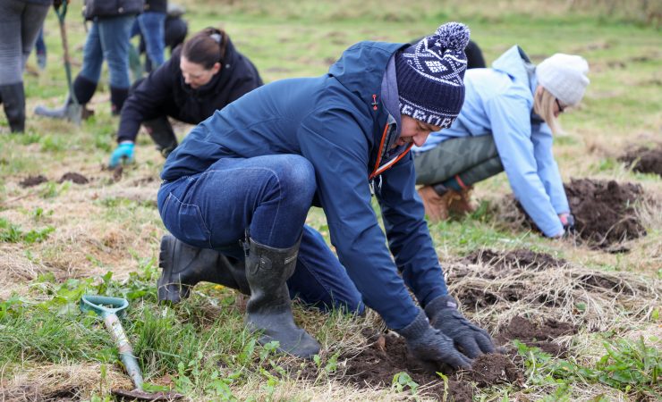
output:
{"label": "small patch of loose brown soil just right of the grey gloves", "polygon": [[536,324],[518,315],[513,317],[503,331],[499,332],[496,339],[498,343],[518,339],[527,346],[540,348],[552,356],[564,356],[567,349],[552,340],[574,333],[577,333],[577,328],[569,322],[547,319],[545,322]]}

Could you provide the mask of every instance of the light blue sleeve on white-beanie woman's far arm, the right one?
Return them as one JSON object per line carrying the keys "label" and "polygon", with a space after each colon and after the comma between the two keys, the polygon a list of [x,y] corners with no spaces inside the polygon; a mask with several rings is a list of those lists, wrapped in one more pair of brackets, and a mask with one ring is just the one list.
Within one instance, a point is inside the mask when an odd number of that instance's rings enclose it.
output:
{"label": "light blue sleeve on white-beanie woman's far arm, the right one", "polygon": [[552,207],[556,214],[568,214],[570,205],[552,152],[552,131],[546,123],[536,124],[531,128],[531,142],[538,162],[538,175],[551,199]]}

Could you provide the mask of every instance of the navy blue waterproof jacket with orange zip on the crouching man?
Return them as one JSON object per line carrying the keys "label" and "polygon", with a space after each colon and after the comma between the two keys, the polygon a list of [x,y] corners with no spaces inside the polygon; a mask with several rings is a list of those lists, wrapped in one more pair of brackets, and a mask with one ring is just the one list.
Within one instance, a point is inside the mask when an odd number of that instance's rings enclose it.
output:
{"label": "navy blue waterproof jacket with orange zip on the crouching man", "polygon": [[[315,167],[315,198],[327,215],[340,262],[365,304],[395,330],[420,312],[404,283],[422,306],[447,292],[414,188],[412,155],[389,155],[382,140],[386,133],[399,135],[399,118],[381,102],[381,88],[387,63],[403,46],[361,42],[347,49],[326,75],[279,80],[252,90],[191,130],[161,173],[164,180],[176,180],[203,172],[224,157],[307,158]],[[395,110],[399,113],[397,104]],[[401,159],[390,169],[374,173],[376,165],[397,157]],[[371,187],[381,206],[388,247],[370,203]]]}

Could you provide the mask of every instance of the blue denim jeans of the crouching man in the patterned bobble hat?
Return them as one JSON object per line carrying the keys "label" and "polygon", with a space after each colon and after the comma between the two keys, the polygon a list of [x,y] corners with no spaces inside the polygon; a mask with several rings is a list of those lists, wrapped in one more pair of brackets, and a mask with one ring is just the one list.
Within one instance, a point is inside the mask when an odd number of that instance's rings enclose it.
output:
{"label": "blue denim jeans of the crouching man in the patterned bobble hat", "polygon": [[318,231],[304,225],[315,190],[314,169],[302,156],[224,158],[206,172],[165,182],[157,204],[175,238],[235,258],[243,258],[247,230],[270,247],[292,247],[301,237],[290,296],[361,314],[361,294],[343,265]]}

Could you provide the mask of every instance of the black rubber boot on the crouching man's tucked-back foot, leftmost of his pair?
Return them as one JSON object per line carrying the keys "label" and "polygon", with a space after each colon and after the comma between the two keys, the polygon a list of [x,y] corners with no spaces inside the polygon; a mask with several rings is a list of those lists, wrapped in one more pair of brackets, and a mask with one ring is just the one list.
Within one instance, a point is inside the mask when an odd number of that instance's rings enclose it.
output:
{"label": "black rubber boot on the crouching man's tucked-back foot, leftmost of his pair", "polygon": [[244,262],[208,248],[192,247],[171,235],[161,238],[158,301],[177,304],[198,282],[212,282],[250,294]]}

